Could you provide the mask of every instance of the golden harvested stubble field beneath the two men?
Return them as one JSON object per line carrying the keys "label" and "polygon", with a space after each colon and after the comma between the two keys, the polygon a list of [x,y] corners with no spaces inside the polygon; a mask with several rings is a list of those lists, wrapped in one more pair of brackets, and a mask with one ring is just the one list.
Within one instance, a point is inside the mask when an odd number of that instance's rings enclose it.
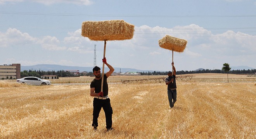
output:
{"label": "golden harvested stubble field beneath the two men", "polygon": [[109,132],[103,110],[93,131],[88,83],[29,86],[0,81],[0,138],[255,139],[255,80],[210,79],[177,81],[173,108],[165,83],[109,83],[114,128]]}

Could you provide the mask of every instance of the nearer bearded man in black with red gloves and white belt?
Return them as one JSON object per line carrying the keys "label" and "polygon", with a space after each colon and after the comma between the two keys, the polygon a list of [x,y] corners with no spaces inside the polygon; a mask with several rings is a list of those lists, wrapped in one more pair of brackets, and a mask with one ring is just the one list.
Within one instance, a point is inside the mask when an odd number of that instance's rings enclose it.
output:
{"label": "nearer bearded man in black with red gloves and white belt", "polygon": [[107,78],[113,73],[114,68],[107,63],[106,58],[102,59],[102,62],[104,62],[107,67],[109,68],[109,71],[104,74],[103,78],[103,92],[101,92],[101,82],[102,82],[102,76],[100,73],[100,68],[95,66],[93,68],[93,75],[95,75],[95,78],[92,80],[90,84],[90,95],[93,98],[93,122],[92,126],[94,130],[97,130],[98,127],[98,117],[100,114],[101,108],[103,108],[106,116],[106,128],[107,131],[112,130],[112,114],[113,110],[110,104],[110,99],[108,97],[108,85],[107,85]]}

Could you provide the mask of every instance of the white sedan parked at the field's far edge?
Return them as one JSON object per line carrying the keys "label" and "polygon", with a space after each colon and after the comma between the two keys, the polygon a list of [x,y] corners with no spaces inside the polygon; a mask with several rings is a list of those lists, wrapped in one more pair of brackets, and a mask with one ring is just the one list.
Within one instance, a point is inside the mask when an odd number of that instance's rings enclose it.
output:
{"label": "white sedan parked at the field's far edge", "polygon": [[17,83],[24,83],[28,85],[50,85],[51,81],[43,80],[37,77],[24,77],[16,80]]}

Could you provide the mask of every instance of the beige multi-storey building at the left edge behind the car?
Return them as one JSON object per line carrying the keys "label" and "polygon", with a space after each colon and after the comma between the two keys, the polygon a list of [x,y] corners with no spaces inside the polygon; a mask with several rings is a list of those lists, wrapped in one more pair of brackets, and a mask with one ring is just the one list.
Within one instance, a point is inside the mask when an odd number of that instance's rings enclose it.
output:
{"label": "beige multi-storey building at the left edge behind the car", "polygon": [[21,64],[0,65],[0,79],[20,79]]}

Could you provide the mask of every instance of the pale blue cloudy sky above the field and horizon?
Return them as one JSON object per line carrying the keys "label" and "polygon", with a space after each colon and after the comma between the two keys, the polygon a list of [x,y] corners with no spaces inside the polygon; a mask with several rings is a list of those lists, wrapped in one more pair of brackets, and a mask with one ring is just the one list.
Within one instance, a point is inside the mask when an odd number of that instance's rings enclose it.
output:
{"label": "pale blue cloudy sky above the field and horizon", "polygon": [[135,25],[132,39],[107,41],[114,68],[171,70],[166,35],[187,40],[177,71],[256,68],[256,0],[0,0],[0,65],[93,67],[96,45],[102,67],[104,41],[81,36],[82,22],[102,20]]}

